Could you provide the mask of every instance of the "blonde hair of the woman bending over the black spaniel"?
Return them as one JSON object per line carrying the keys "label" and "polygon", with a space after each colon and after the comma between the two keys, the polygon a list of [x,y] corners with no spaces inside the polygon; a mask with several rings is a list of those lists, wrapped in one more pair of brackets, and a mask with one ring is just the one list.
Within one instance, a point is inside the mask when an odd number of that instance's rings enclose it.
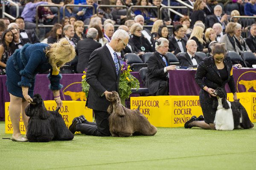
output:
{"label": "blonde hair of the woman bending over the black spaniel", "polygon": [[58,42],[53,43],[45,50],[46,56],[49,58],[49,63],[54,70],[70,62],[76,57],[76,51],[66,38],[61,38]]}

